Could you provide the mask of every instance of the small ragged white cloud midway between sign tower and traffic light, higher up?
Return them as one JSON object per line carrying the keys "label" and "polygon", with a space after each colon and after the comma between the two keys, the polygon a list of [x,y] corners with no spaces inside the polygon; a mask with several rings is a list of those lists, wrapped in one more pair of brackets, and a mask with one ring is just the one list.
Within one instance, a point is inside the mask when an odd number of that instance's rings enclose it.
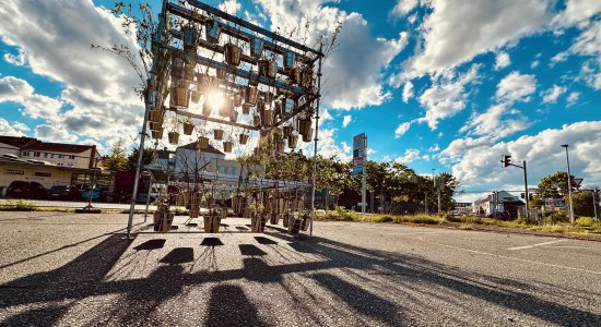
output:
{"label": "small ragged white cloud midway between sign tower and traffic light, higher up", "polygon": [[474,64],[469,72],[456,78],[449,73],[449,76],[440,76],[433,81],[432,87],[420,96],[420,104],[426,108],[426,114],[417,121],[427,122],[428,126],[435,130],[439,120],[463,110],[469,95],[467,86],[478,80],[479,69],[480,65]]}

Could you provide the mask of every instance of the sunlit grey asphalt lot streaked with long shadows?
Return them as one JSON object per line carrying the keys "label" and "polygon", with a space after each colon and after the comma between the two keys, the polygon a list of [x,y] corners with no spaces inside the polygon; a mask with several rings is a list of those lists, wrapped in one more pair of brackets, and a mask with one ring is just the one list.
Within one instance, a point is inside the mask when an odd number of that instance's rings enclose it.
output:
{"label": "sunlit grey asphalt lot streaked with long shadows", "polygon": [[384,223],[154,233],[0,213],[2,326],[601,326],[601,243]]}

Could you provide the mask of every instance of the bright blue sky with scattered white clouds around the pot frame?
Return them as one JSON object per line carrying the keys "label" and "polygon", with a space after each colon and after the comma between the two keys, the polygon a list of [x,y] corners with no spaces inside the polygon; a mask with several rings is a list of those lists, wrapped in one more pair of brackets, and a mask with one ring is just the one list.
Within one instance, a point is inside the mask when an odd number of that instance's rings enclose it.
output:
{"label": "bright blue sky with scattered white clouds around the pot frame", "polygon": [[[467,190],[498,190],[522,184],[521,171],[499,167],[502,155],[527,160],[537,184],[565,169],[559,145],[567,143],[573,173],[601,184],[601,1],[208,3],[272,29],[308,17],[309,39],[343,24],[325,64],[323,155],[350,158],[353,135],[365,132],[370,159],[451,172]],[[138,81],[123,61],[90,49],[132,41],[111,5],[5,1],[0,134],[95,143],[105,153],[119,137],[135,142]]]}

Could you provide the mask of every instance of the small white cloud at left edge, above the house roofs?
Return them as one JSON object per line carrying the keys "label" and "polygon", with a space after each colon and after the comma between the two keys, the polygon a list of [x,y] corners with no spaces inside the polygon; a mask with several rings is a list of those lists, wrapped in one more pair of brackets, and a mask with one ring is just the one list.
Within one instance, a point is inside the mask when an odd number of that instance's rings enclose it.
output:
{"label": "small white cloud at left edge, above the house roofs", "polygon": [[27,81],[13,76],[0,78],[0,102],[11,101],[23,106],[23,113],[31,118],[52,118],[62,104],[49,97],[34,93]]}

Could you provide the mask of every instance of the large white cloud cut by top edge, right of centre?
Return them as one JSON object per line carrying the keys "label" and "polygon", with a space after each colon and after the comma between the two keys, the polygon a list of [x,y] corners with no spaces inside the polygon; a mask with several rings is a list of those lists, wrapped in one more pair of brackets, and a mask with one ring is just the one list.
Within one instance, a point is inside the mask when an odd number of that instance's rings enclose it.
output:
{"label": "large white cloud cut by top edge, right of centre", "polygon": [[439,72],[540,31],[551,22],[549,1],[431,0],[422,24],[423,50],[404,62],[409,75]]}

